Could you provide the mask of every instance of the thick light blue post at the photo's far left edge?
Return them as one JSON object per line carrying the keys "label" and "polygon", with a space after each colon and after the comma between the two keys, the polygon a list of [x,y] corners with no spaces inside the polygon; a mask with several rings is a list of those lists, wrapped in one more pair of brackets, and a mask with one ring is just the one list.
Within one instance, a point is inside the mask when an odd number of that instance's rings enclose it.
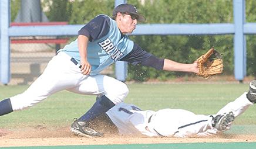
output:
{"label": "thick light blue post at the photo's far left edge", "polygon": [[9,0],[0,1],[0,79],[2,84],[10,81]]}

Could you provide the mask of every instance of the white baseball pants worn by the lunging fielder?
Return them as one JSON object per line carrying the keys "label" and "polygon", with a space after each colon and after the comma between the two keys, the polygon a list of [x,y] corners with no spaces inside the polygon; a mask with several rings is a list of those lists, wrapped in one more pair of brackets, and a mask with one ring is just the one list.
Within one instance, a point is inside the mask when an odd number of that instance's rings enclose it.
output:
{"label": "white baseball pants worn by the lunging fielder", "polygon": [[43,74],[25,92],[10,98],[12,109],[33,106],[62,90],[84,95],[105,95],[114,104],[124,101],[129,92],[126,84],[106,75],[83,75],[79,65],[70,59],[64,52],[54,56]]}

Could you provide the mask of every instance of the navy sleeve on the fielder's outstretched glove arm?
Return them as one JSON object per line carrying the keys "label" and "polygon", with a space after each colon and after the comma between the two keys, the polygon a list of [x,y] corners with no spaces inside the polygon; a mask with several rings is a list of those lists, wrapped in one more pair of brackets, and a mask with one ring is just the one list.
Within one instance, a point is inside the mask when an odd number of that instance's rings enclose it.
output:
{"label": "navy sleeve on the fielder's outstretched glove arm", "polygon": [[134,43],[133,50],[120,61],[127,61],[133,65],[141,64],[144,66],[153,67],[156,70],[163,70],[164,66],[164,59],[157,58],[153,54],[148,53],[136,43]]}

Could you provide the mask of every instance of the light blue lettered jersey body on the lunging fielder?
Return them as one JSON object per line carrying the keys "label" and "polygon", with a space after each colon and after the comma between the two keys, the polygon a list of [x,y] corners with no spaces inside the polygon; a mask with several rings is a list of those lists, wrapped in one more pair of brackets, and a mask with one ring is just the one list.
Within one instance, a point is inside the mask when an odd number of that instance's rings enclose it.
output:
{"label": "light blue lettered jersey body on the lunging fielder", "polygon": [[[109,16],[103,16],[109,18]],[[115,20],[111,18],[109,18],[109,20],[109,32],[107,32],[105,36],[88,43],[87,60],[90,65],[92,65],[90,75],[99,74],[100,71],[104,70],[115,61],[120,60],[133,49],[133,41],[128,39],[126,35],[122,35]],[[78,39],[59,51],[64,51],[80,63]]]}

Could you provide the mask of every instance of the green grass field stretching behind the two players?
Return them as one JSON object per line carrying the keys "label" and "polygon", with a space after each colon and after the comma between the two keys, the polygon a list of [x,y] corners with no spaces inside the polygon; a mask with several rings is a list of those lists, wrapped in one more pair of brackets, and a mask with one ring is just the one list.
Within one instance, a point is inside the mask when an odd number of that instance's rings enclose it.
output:
{"label": "green grass field stretching behind the two players", "polygon": [[[226,103],[248,90],[248,84],[129,84],[125,102],[146,110],[163,108],[187,109],[197,114],[213,114]],[[22,93],[26,85],[0,86],[0,100]],[[69,126],[74,117],[86,112],[95,102],[95,96],[58,92],[32,108],[0,117],[0,127],[17,128]],[[238,117],[234,125],[255,125],[256,107],[251,106]]]}

